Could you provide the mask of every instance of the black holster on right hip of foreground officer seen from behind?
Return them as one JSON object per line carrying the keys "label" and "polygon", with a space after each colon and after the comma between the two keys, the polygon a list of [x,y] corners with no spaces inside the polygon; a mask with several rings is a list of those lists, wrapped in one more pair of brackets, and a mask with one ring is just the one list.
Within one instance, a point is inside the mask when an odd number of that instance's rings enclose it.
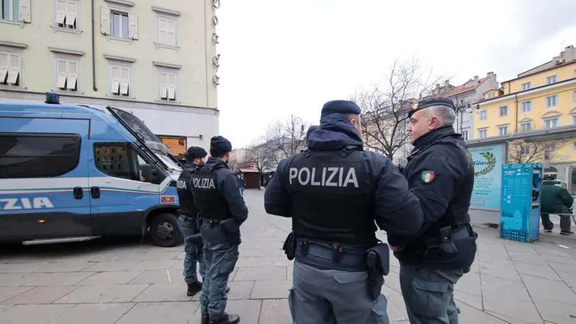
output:
{"label": "black holster on right hip of foreground officer seen from behind", "polygon": [[366,251],[368,266],[368,295],[376,300],[380,296],[383,277],[390,271],[390,250],[385,243],[376,244]]}

